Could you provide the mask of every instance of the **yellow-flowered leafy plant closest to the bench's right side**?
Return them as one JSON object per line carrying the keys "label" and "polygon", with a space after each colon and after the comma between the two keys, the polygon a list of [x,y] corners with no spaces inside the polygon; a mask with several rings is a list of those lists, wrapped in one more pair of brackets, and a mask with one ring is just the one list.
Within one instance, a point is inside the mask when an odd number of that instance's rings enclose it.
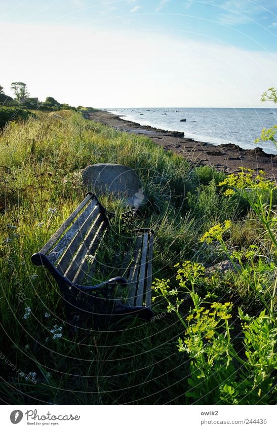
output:
{"label": "yellow-flowered leafy plant closest to the bench's right side", "polygon": [[[201,263],[185,261],[178,268],[176,280],[178,287],[172,289],[169,280],[153,282],[157,297],[167,301],[168,312],[175,312],[182,326],[184,336],[178,339],[178,350],[188,354],[190,359],[190,388],[186,397],[200,400],[203,404],[220,401],[221,386],[235,379],[233,360],[243,366],[242,360],[232,345],[231,325],[232,303],[215,301],[217,296],[208,292],[205,297],[199,294],[203,284],[210,282],[205,276]],[[185,302],[191,303],[185,313]],[[206,399],[206,400],[204,400]]]}

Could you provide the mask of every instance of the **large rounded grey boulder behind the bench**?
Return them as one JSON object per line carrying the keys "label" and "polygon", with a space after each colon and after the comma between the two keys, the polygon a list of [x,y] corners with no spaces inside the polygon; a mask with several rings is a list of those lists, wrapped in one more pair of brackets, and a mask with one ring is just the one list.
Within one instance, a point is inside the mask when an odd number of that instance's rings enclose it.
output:
{"label": "large rounded grey boulder behind the bench", "polygon": [[96,195],[112,192],[124,199],[127,206],[139,208],[147,202],[136,172],[121,164],[101,163],[82,171],[82,182]]}

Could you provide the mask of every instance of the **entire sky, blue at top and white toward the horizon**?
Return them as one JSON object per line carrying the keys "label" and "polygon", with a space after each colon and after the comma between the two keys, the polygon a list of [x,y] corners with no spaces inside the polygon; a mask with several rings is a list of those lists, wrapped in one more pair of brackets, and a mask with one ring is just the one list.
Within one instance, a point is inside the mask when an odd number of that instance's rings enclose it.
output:
{"label": "entire sky, blue at top and white toward the horizon", "polygon": [[276,36],[277,0],[2,0],[0,84],[72,105],[265,107]]}

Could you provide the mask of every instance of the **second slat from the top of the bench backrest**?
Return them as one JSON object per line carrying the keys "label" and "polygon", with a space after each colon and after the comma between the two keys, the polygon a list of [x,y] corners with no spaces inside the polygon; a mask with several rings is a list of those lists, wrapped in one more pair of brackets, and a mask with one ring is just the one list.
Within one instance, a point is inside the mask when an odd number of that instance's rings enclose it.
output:
{"label": "second slat from the top of the bench backrest", "polygon": [[76,236],[78,231],[82,228],[83,223],[86,221],[88,216],[92,213],[95,206],[97,204],[96,200],[92,200],[86,209],[82,212],[82,214],[74,221],[74,223],[71,225],[71,227],[66,231],[64,236],[61,238],[61,240],[58,242],[58,244],[55,246],[55,248],[52,249],[52,251],[48,254],[48,258],[53,264],[56,264],[58,259],[61,257],[61,255],[64,253],[67,247],[70,246],[70,243],[72,242],[73,238]]}

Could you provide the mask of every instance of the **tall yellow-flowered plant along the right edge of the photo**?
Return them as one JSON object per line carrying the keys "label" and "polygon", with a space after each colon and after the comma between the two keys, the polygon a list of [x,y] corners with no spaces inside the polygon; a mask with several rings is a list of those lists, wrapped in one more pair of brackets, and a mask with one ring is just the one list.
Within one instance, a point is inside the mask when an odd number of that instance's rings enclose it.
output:
{"label": "tall yellow-flowered plant along the right edge of the photo", "polygon": [[268,393],[276,390],[271,375],[277,369],[277,216],[273,204],[277,185],[266,179],[262,171],[254,176],[253,170],[242,169],[239,174],[228,175],[219,186],[227,187],[225,196],[240,193],[248,201],[253,215],[264,226],[267,236],[267,246],[263,253],[254,244],[247,249],[231,249],[224,237],[231,228],[231,223],[225,221],[210,228],[200,239],[207,244],[214,241],[220,243],[221,249],[236,269],[236,278],[243,282],[250,294],[255,292],[264,305],[258,317],[249,317],[244,315],[242,309],[239,310],[246,363],[241,367],[239,379],[226,380],[222,385],[220,400],[230,404],[262,403],[266,402]]}

